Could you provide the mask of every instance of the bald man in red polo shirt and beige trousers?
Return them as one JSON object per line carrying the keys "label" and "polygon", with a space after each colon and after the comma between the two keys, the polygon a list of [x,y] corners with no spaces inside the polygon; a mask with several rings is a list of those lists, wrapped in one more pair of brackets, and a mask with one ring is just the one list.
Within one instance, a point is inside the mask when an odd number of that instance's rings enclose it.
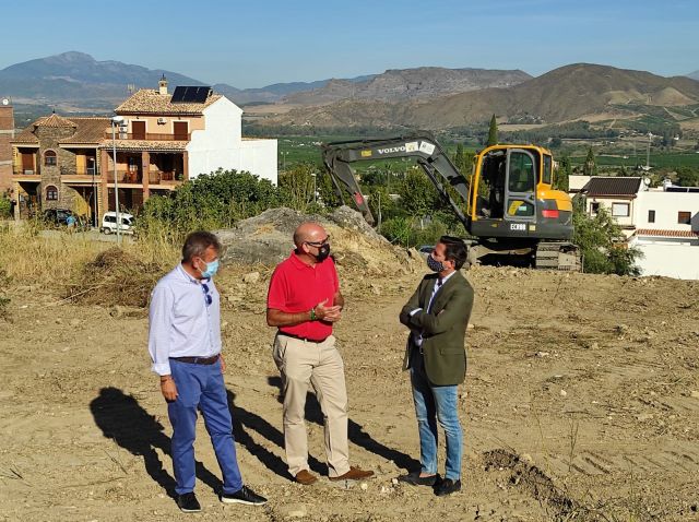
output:
{"label": "bald man in red polo shirt and beige trousers", "polygon": [[266,299],[266,323],[279,328],[273,355],[282,375],[286,463],[296,482],[304,485],[318,481],[308,467],[304,412],[309,383],[325,418],[330,479],[357,481],[374,475],[350,465],[344,365],[332,334],[333,323],[342,317],[344,298],[329,239],[316,223],[296,228],[296,249],[274,270]]}

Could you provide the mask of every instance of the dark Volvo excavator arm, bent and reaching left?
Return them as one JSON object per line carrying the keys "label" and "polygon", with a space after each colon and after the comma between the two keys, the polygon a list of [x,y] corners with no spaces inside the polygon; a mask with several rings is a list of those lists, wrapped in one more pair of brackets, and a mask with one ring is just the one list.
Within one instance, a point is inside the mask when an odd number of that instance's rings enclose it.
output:
{"label": "dark Volvo excavator arm, bent and reaching left", "polygon": [[[413,157],[425,170],[425,174],[437,188],[441,197],[449,202],[457,217],[469,229],[469,218],[462,209],[469,207],[469,183],[464,176],[451,163],[446,151],[437,143],[429,132],[407,134],[399,138],[376,140],[352,140],[322,145],[322,158],[325,168],[330,173],[335,190],[340,198],[345,200],[345,193],[350,193],[364,218],[374,224],[374,216],[362,194],[362,189],[352,169],[355,162],[371,162],[376,159]],[[447,186],[453,187],[455,193],[462,199],[463,205],[458,205],[447,190]],[[452,191],[453,193],[453,191]]]}

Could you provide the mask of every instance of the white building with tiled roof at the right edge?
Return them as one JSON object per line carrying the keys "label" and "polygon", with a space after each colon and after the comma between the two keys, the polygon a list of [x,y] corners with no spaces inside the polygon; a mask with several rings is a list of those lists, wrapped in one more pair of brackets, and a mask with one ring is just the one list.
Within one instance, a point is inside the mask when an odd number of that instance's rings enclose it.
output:
{"label": "white building with tiled roof at the right edge", "polygon": [[699,188],[666,181],[651,189],[642,178],[594,176],[580,192],[590,215],[607,209],[643,253],[642,275],[699,280]]}

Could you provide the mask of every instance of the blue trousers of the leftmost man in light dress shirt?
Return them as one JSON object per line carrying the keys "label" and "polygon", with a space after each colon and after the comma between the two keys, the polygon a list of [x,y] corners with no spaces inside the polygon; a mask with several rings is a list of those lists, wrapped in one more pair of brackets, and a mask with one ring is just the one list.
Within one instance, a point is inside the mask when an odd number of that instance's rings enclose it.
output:
{"label": "blue trousers of the leftmost man in light dress shirt", "polygon": [[223,473],[223,493],[238,491],[242,487],[242,478],[238,470],[221,360],[214,365],[192,365],[170,359],[170,371],[178,393],[177,400],[167,405],[173,425],[173,467],[177,483],[175,491],[182,495],[194,490],[198,408],[204,417],[204,425]]}

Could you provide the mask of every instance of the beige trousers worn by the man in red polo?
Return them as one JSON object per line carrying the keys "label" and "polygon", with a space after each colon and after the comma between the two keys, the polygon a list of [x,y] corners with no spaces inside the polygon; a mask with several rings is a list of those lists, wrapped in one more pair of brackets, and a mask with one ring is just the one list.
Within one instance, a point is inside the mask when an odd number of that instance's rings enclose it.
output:
{"label": "beige trousers worn by the man in red polo", "polygon": [[273,356],[282,375],[284,446],[289,473],[296,476],[308,470],[305,407],[310,383],[324,418],[328,474],[344,475],[350,471],[347,390],[335,337],[313,343],[280,334],[274,339]]}

